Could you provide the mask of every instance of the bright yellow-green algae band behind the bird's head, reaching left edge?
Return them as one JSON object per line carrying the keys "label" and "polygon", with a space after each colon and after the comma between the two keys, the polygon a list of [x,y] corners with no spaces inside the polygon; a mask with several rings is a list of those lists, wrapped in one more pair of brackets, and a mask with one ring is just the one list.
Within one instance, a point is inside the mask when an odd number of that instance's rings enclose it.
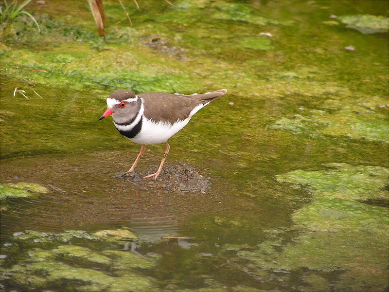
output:
{"label": "bright yellow-green algae band behind the bird's head, reaching left edge", "polygon": [[[48,54],[35,50],[19,50],[18,67],[12,65],[14,54],[3,55],[2,72],[16,78],[23,78],[22,76],[26,75],[23,70],[33,70],[29,75],[30,82],[34,84],[46,83],[55,87],[66,84],[73,89],[98,85],[127,88],[137,92],[162,91],[169,84],[170,91],[184,91],[183,85],[188,84],[190,80],[188,74],[162,66],[163,60],[153,61],[153,66],[150,66],[147,60],[150,60],[151,55],[147,56],[147,51],[144,50],[139,51],[139,55],[134,55],[134,51],[139,50],[135,46],[131,49],[131,53],[126,54],[121,54],[122,51],[114,47],[97,54],[88,48],[85,53],[73,54],[73,50],[68,45],[66,47],[69,51],[67,54],[71,54],[71,58],[64,58],[63,52]],[[140,62],[139,59],[142,61]],[[118,67],[118,64],[122,66]],[[91,65],[97,72],[88,70]],[[118,74],[121,76],[120,79]],[[65,79],[63,76],[68,78]]]}

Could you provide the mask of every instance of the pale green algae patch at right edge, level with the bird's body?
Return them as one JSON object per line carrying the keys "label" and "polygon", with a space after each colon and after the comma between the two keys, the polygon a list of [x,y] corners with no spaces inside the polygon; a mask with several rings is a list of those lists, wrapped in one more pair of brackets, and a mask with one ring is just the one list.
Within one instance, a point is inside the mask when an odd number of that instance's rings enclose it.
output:
{"label": "pale green algae patch at right edge, level with the bird's body", "polygon": [[385,96],[327,98],[320,110],[311,109],[294,118],[282,117],[267,128],[283,129],[311,137],[349,137],[389,142],[388,107]]}

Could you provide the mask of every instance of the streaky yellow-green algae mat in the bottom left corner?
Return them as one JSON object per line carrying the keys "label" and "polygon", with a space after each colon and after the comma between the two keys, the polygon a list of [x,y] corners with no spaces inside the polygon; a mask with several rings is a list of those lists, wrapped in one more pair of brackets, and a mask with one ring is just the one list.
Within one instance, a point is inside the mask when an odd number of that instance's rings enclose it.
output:
{"label": "streaky yellow-green algae mat in the bottom left corner", "polygon": [[[37,237],[40,239],[37,240]],[[155,266],[153,258],[135,255],[130,251],[98,251],[82,246],[90,241],[96,241],[97,238],[85,231],[41,233],[40,236],[38,232],[31,231],[27,234],[17,234],[15,235],[17,242],[26,244],[27,241],[30,247],[22,254],[18,252],[12,254],[13,252],[8,249],[2,249],[6,254],[11,254],[2,262],[1,279],[16,281],[21,287],[38,290],[50,289],[53,285],[59,285],[63,291],[158,290],[153,278],[132,272],[134,270],[139,273],[140,269],[153,268]],[[78,239],[79,244],[60,245],[70,239]],[[43,248],[42,243],[48,242],[50,245]],[[13,249],[18,250],[20,248],[18,245]],[[15,256],[18,256],[18,263],[12,264]],[[98,267],[99,271],[94,270],[95,267]],[[78,283],[77,287],[73,285],[74,281]]]}

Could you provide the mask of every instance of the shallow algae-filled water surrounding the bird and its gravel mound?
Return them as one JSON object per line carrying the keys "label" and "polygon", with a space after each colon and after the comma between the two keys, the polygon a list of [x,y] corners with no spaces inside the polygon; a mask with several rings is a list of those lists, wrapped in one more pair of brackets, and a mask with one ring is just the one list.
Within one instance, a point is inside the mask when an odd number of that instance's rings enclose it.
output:
{"label": "shallow algae-filled water surrounding the bird and its gravel mound", "polygon": [[[388,35],[329,18],[388,15],[388,1],[142,1],[139,10],[124,1],[133,27],[104,1],[105,41],[87,3],[47,2],[28,6],[40,36],[14,26],[0,47],[1,184],[48,189],[1,201],[2,291],[128,291],[128,271],[146,281],[134,278],[134,291],[388,289]],[[119,88],[228,89],[169,140],[165,164],[195,167],[210,189],[117,177],[140,150],[97,121]],[[163,149],[149,146],[138,170],[159,164]],[[119,228],[138,239],[65,241],[95,259],[58,247],[70,230]],[[15,234],[26,230],[58,238]],[[37,248],[49,251],[41,263],[78,278],[36,268]],[[112,249],[153,265],[96,259]]]}

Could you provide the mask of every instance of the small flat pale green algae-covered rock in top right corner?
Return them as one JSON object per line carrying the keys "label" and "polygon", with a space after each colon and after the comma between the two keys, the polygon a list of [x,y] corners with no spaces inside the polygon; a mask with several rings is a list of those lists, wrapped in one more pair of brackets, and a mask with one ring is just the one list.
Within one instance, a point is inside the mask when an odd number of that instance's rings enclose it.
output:
{"label": "small flat pale green algae-covered rock in top right corner", "polygon": [[339,19],[349,28],[354,28],[358,32],[369,35],[376,33],[386,33],[389,30],[389,18],[376,15],[346,15]]}

